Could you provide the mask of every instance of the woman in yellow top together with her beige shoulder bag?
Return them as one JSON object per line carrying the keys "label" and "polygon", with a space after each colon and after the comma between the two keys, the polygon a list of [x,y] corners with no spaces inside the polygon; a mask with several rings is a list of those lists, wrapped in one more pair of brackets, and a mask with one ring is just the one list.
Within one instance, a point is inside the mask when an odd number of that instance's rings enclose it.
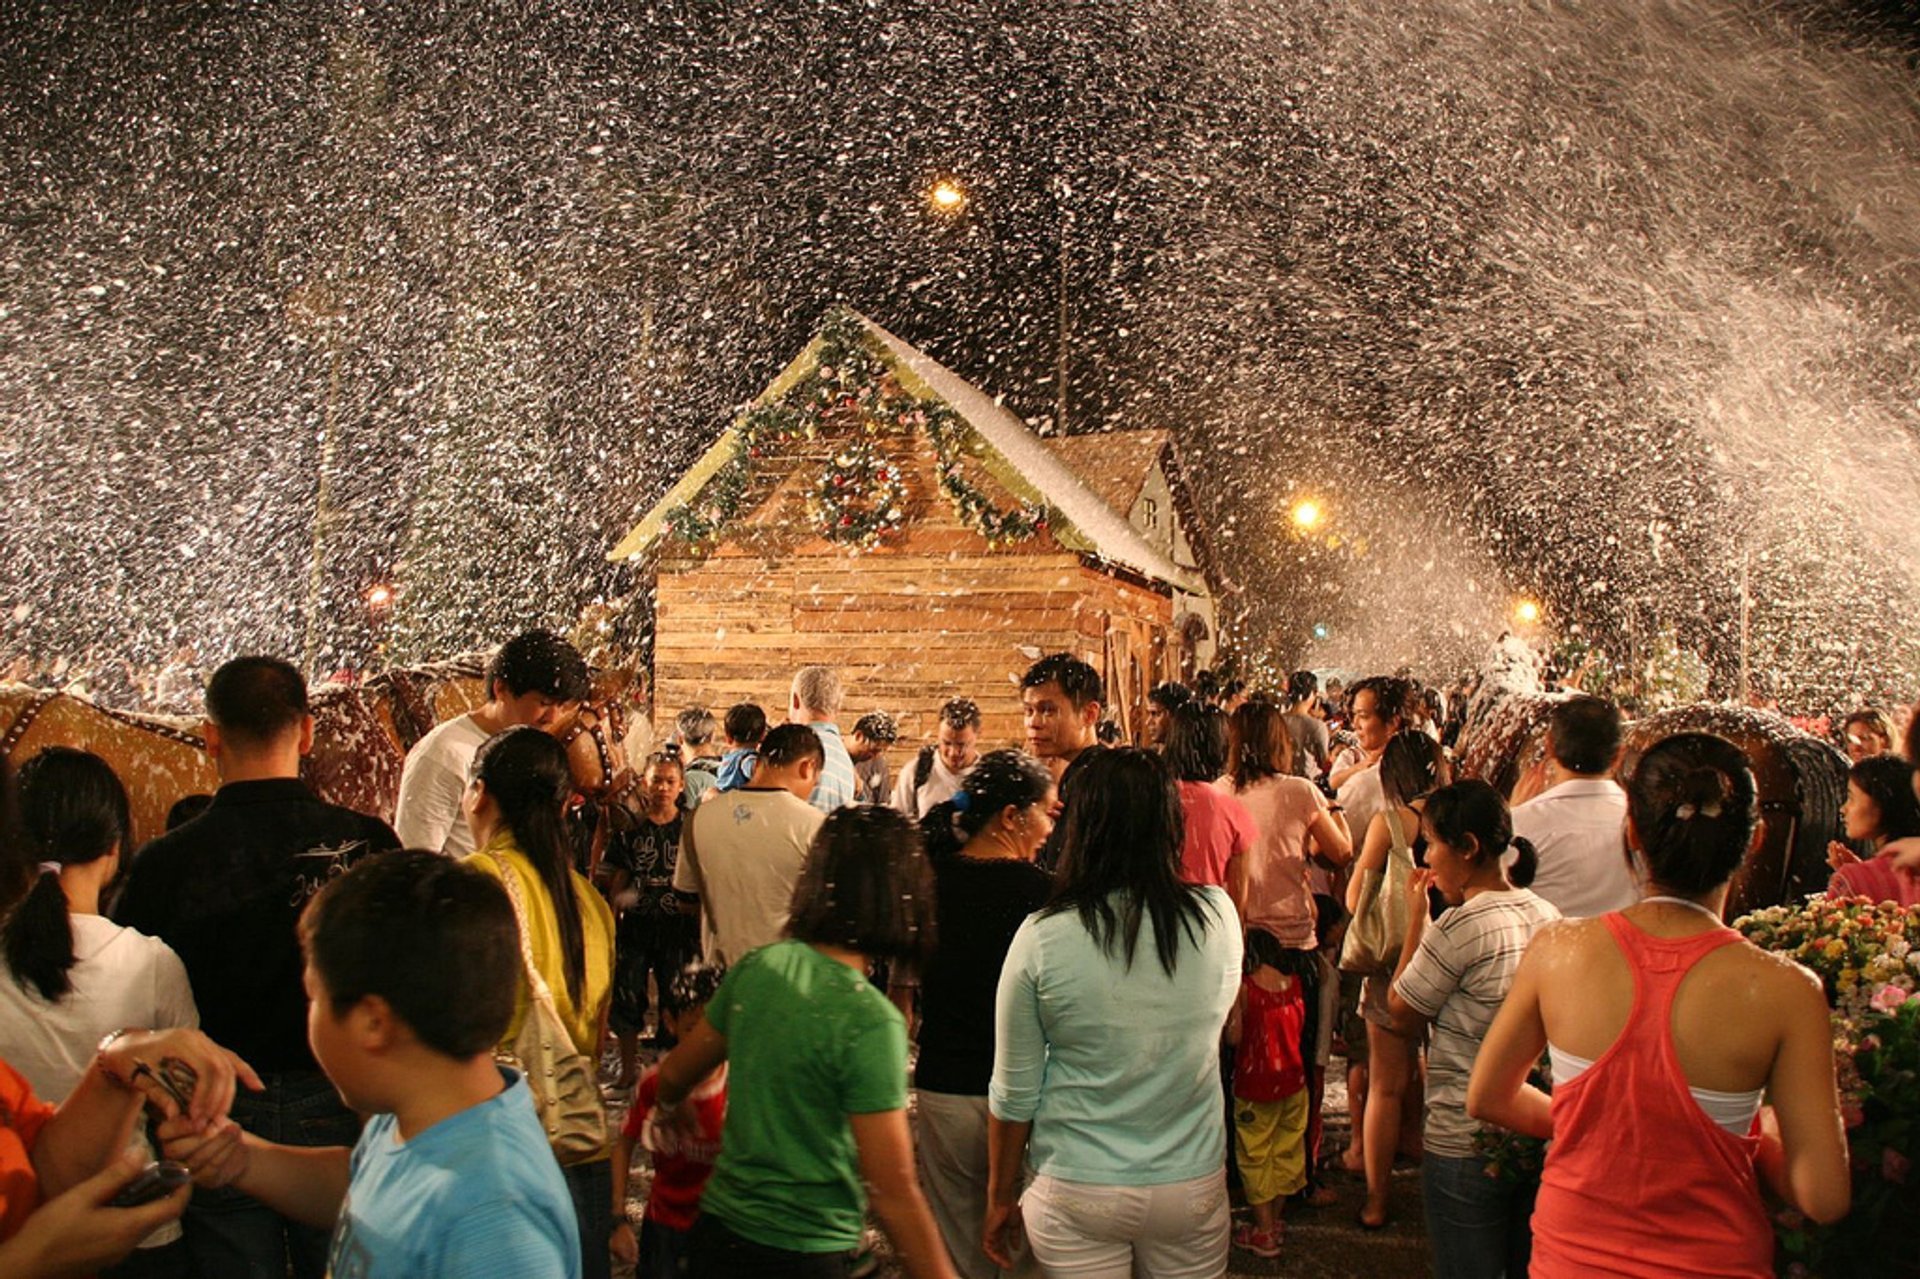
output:
{"label": "woman in yellow top together with her beige shoulder bag", "polygon": [[520,924],[526,977],[495,1056],[534,1091],[540,1122],[580,1219],[586,1279],[609,1279],[612,1131],[595,1052],[612,999],[612,910],[574,870],[566,841],[566,749],[538,728],[509,728],[474,753],[467,824],[474,866],[495,876]]}

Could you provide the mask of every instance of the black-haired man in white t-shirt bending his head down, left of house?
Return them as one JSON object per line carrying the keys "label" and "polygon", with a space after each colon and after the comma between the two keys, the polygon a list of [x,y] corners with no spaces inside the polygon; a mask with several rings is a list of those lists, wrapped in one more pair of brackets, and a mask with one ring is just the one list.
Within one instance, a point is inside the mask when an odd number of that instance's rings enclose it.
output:
{"label": "black-haired man in white t-shirt bending his head down, left of house", "polygon": [[528,630],[499,645],[486,668],[486,703],[434,726],[407,751],[394,808],[394,828],[405,845],[470,857],[474,837],[461,797],[474,751],[518,724],[553,732],[589,691],[580,651],[553,632]]}

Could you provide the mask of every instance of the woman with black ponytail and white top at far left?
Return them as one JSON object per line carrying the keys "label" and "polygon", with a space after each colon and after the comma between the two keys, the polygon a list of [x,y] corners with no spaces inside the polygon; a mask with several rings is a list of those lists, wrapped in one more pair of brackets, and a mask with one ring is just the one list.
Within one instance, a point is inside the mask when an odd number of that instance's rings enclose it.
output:
{"label": "woman with black ponytail and white top at far left", "polygon": [[[17,797],[31,878],[0,924],[0,1058],[36,1097],[60,1102],[94,1064],[102,1037],[125,1026],[198,1027],[200,1012],[167,943],[100,914],[129,835],[127,789],[108,762],[48,747],[21,766]],[[144,1135],[136,1146],[146,1148]],[[184,1266],[179,1239],[180,1227],[167,1223],[111,1273]]]}

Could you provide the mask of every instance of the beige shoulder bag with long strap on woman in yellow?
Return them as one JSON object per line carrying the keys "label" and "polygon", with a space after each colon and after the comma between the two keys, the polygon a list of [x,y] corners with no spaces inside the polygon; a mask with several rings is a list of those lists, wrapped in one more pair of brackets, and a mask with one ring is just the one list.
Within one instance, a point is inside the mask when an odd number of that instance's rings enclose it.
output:
{"label": "beige shoulder bag with long strap on woman in yellow", "polygon": [[513,901],[513,922],[520,931],[520,962],[526,966],[526,985],[532,995],[526,1001],[520,1033],[513,1043],[493,1049],[493,1060],[526,1075],[526,1087],[534,1093],[534,1112],[547,1129],[547,1145],[553,1146],[561,1166],[591,1164],[607,1158],[612,1145],[593,1060],[574,1047],[574,1037],[553,1002],[553,991],[534,964],[520,876],[507,858],[499,858],[499,878]]}

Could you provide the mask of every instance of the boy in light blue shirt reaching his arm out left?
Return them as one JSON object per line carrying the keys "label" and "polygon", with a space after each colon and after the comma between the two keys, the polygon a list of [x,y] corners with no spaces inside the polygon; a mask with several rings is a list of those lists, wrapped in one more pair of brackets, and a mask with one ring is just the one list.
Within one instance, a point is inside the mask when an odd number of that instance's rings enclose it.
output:
{"label": "boy in light blue shirt reaching his arm out left", "polygon": [[493,1064],[520,987],[499,883],[432,853],[365,858],[300,920],[307,1037],[359,1143],[163,1125],[198,1185],[332,1225],[332,1279],[580,1279],[580,1235],[526,1081]]}

